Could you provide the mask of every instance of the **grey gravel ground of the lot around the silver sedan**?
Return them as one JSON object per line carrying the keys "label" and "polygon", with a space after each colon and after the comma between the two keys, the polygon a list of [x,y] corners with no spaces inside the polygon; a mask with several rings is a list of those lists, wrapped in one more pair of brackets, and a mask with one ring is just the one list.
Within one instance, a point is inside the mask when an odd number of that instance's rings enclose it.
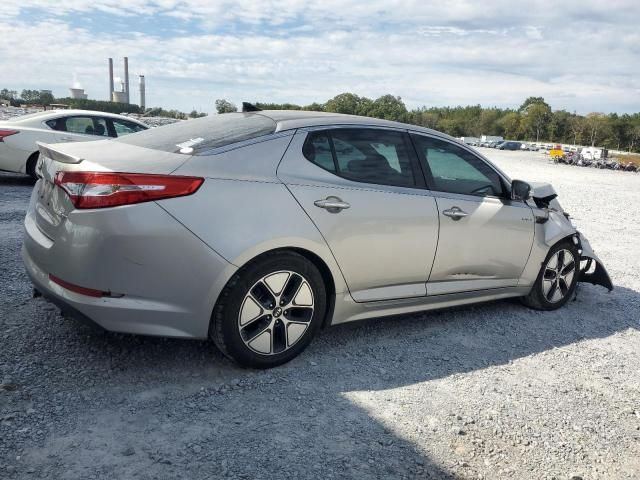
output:
{"label": "grey gravel ground of the lot around the silver sedan", "polygon": [[31,299],[0,176],[0,478],[638,478],[640,175],[484,153],[554,183],[616,290],[334,327],[267,372]]}

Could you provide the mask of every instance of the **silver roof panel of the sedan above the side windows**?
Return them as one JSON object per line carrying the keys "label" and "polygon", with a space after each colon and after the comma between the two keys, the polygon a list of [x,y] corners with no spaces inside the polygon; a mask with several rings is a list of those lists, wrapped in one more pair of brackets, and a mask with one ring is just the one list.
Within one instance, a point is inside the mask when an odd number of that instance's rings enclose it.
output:
{"label": "silver roof panel of the sedan above the side windows", "polygon": [[363,117],[360,115],[347,115],[344,113],[333,112],[312,112],[307,110],[262,110],[255,112],[255,114],[263,115],[276,122],[278,124],[276,128],[277,131],[305,127],[319,127],[323,125],[370,125],[375,127],[399,128],[403,130],[430,133],[432,135],[437,135],[460,143],[458,139],[430,128],[410,125],[408,123],[394,122],[391,120],[383,120],[380,118]]}

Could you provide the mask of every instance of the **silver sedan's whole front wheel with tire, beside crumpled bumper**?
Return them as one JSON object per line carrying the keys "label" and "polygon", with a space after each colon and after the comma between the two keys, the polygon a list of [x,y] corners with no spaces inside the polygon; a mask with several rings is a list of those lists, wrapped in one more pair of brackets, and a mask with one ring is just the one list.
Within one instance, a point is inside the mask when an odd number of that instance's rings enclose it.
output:
{"label": "silver sedan's whole front wheel with tire, beside crumpled bumper", "polygon": [[573,298],[580,274],[580,254],[571,242],[549,250],[531,292],[522,303],[536,310],[556,310]]}

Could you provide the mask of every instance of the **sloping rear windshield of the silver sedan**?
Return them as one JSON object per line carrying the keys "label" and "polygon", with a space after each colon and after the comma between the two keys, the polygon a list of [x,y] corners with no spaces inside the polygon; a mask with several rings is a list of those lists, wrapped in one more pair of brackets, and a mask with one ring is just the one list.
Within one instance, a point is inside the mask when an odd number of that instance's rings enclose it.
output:
{"label": "sloping rear windshield of the silver sedan", "polygon": [[276,122],[255,113],[224,113],[151,128],[114,141],[163,152],[198,155],[276,131]]}

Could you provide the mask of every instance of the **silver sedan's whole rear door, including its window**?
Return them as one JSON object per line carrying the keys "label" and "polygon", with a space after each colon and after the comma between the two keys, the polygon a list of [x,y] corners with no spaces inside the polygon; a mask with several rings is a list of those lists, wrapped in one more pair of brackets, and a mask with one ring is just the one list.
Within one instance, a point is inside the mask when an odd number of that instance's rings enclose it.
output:
{"label": "silver sedan's whole rear door, including its window", "polygon": [[426,295],[438,212],[406,132],[300,130],[278,177],[327,241],[355,301]]}

